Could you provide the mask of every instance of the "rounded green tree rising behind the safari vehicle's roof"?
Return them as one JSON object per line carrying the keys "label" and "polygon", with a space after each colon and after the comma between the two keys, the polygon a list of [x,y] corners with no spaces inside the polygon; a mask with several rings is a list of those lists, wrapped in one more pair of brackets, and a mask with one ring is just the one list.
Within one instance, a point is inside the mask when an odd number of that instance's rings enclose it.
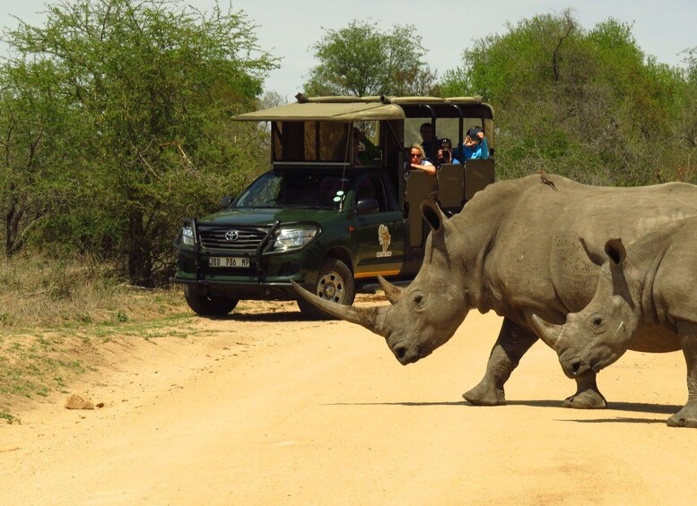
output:
{"label": "rounded green tree rising behind the safari vehicle's roof", "polygon": [[340,30],[325,30],[312,48],[318,64],[310,69],[309,95],[426,95],[435,73],[423,60],[426,50],[414,30],[395,25],[379,30],[353,20]]}

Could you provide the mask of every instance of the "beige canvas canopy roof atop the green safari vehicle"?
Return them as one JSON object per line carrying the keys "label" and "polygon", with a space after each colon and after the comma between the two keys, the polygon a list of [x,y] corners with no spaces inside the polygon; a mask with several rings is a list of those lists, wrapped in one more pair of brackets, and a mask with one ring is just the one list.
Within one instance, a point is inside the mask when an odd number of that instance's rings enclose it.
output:
{"label": "beige canvas canopy roof atop the green safari vehicle", "polygon": [[[476,107],[480,115],[492,118],[493,110],[479,97],[313,97],[299,95],[298,102],[254,111],[233,119],[238,121],[365,121],[405,117],[459,116],[461,107]],[[428,114],[426,114],[428,113]]]}

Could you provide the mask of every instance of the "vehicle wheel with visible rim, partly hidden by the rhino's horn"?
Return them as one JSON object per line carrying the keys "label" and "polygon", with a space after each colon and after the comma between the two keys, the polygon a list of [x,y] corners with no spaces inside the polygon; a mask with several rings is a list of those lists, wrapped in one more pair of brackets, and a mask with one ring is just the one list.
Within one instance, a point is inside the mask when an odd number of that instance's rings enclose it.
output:
{"label": "vehicle wheel with visible rim, partly hidden by the rhino's horn", "polygon": [[[316,296],[337,304],[351,305],[356,296],[353,274],[346,264],[335,258],[327,258],[319,268],[317,283],[312,290]],[[298,299],[298,307],[308,318],[314,320],[330,320],[335,318],[325,313],[316,305],[305,299]]]}

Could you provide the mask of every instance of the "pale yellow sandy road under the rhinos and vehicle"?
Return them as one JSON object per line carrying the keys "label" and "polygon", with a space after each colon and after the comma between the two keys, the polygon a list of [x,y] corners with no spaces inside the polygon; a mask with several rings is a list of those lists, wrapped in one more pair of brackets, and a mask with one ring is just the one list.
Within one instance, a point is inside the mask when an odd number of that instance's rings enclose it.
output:
{"label": "pale yellow sandy road under the rhinos and vehicle", "polygon": [[681,354],[628,353],[599,376],[610,408],[577,411],[537,343],[509,404],[473,407],[493,313],[404,367],[368,330],[267,307],[110,345],[114,365],[74,386],[104,407],[61,395],[0,425],[0,502],[697,503],[697,430],[665,423],[686,399]]}

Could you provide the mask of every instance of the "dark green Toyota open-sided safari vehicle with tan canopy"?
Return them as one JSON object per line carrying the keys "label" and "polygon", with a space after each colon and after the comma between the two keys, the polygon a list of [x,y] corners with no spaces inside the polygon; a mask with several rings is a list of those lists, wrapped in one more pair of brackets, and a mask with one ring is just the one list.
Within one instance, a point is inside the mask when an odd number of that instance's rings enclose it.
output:
{"label": "dark green Toyota open-sided safari vehicle with tan canopy", "polygon": [[[493,112],[479,98],[299,95],[234,119],[271,122],[271,170],[237,198],[223,198],[223,210],[185,219],[174,241],[171,280],[184,284],[201,315],[230,313],[252,299],[297,300],[302,313],[324,317],[292,280],[340,304],[378,289],[378,275],[406,284],[423,261],[421,202],[435,199],[456,213],[494,180]],[[468,128],[483,128],[490,158],[443,165],[437,176],[408,171],[424,123],[456,146]],[[357,131],[379,148],[360,163]]]}

